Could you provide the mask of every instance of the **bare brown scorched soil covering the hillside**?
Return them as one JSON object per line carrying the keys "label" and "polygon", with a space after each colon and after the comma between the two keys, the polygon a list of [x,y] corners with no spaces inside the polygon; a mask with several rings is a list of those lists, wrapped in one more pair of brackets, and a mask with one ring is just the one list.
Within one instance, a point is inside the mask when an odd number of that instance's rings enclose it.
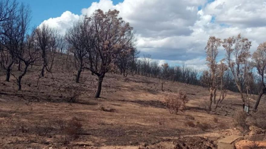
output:
{"label": "bare brown scorched soil covering the hillside", "polygon": [[[217,110],[207,113],[207,88],[166,82],[161,91],[157,79],[109,73],[103,81],[101,98],[96,99],[96,76],[83,71],[81,83],[74,83],[76,70],[66,69],[62,62],[56,64],[53,74],[45,73],[40,79],[39,67],[32,67],[23,78],[22,91],[17,91],[14,77],[11,82],[5,82],[4,75],[0,77],[0,148],[138,149],[144,143],[150,149],[206,149],[216,148],[217,141],[225,136],[243,135],[232,118],[241,109],[238,93],[228,92]],[[185,112],[170,114],[164,98],[180,90],[190,101]],[[79,91],[79,100],[69,103],[67,96],[74,91]],[[266,109],[265,101],[261,100],[259,111]],[[254,103],[250,101],[251,108]],[[102,111],[98,104],[115,110]],[[73,117],[81,121],[83,130],[78,138],[62,144],[62,133],[54,122]],[[187,121],[195,127],[186,126]],[[197,124],[208,128],[203,130]],[[265,144],[265,138],[261,135],[258,141]],[[247,143],[238,144],[238,149],[244,149]]]}

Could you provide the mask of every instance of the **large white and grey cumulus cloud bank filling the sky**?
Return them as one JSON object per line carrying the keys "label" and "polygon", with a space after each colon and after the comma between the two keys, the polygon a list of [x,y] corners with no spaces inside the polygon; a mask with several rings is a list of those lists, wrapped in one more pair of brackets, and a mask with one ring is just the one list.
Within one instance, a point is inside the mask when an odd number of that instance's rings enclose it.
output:
{"label": "large white and grey cumulus cloud bank filling the sky", "polygon": [[[85,6],[86,7],[86,6]],[[186,64],[204,69],[204,47],[209,36],[221,39],[242,33],[252,41],[251,51],[266,39],[265,0],[112,0],[93,2],[76,15],[69,11],[43,23],[64,33],[80,17],[96,9],[117,9],[136,31],[137,48],[158,63]],[[219,49],[219,57],[225,54]]]}

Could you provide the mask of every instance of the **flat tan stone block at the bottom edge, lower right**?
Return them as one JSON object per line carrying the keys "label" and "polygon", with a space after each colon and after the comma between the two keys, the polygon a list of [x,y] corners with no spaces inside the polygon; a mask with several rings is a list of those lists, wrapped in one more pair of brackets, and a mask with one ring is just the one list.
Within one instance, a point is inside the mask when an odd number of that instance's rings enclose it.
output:
{"label": "flat tan stone block at the bottom edge, lower right", "polygon": [[218,149],[235,149],[235,142],[242,139],[242,136],[231,135],[218,141]]}

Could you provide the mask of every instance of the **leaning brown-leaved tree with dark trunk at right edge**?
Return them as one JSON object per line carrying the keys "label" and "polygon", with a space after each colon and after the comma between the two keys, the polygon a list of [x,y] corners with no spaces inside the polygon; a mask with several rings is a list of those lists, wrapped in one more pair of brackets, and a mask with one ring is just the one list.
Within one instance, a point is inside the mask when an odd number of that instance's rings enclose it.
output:
{"label": "leaning brown-leaved tree with dark trunk at right edge", "polygon": [[254,110],[256,111],[258,105],[260,103],[261,97],[266,93],[266,85],[265,85],[265,74],[266,74],[266,42],[260,44],[257,50],[253,53],[252,59],[255,62],[255,67],[258,71],[259,83],[260,83],[260,91],[254,106]]}

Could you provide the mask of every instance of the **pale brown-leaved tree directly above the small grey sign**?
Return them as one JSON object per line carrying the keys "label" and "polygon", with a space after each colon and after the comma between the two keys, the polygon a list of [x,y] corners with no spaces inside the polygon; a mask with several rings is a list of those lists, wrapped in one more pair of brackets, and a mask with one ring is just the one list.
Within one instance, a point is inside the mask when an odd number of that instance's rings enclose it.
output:
{"label": "pale brown-leaved tree directly above the small grey sign", "polygon": [[224,39],[222,45],[226,51],[225,60],[234,77],[235,84],[240,92],[243,109],[245,108],[245,65],[248,63],[251,42],[247,38],[238,36]]}

